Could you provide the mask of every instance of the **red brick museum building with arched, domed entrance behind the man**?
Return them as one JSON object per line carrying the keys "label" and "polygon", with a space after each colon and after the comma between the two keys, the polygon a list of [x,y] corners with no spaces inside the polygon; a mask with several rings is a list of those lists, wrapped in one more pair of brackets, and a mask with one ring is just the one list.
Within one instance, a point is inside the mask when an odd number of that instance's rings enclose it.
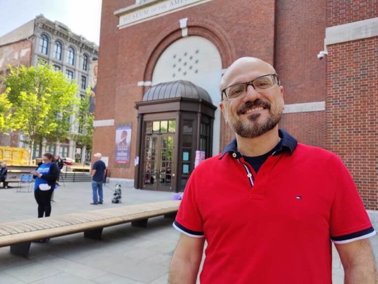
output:
{"label": "red brick museum building with arched, domed entrance behind the man", "polygon": [[[376,210],[377,9],[373,0],[103,0],[94,151],[111,177],[182,190],[195,150],[218,154],[233,137],[219,108],[187,102],[218,107],[224,70],[259,57],[284,85],[280,126],[339,154]],[[123,131],[128,152],[116,146]]]}

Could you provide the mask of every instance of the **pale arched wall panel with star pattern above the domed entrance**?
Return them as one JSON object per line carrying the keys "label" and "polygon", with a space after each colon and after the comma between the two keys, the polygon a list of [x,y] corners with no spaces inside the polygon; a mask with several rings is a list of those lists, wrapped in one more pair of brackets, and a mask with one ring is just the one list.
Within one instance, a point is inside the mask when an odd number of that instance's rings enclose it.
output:
{"label": "pale arched wall panel with star pattern above the domed entrance", "polygon": [[[172,42],[158,57],[153,85],[173,80],[189,81],[205,89],[215,106],[221,102],[221,54],[217,46],[202,36],[190,35]],[[220,153],[221,110],[214,114],[212,156]]]}

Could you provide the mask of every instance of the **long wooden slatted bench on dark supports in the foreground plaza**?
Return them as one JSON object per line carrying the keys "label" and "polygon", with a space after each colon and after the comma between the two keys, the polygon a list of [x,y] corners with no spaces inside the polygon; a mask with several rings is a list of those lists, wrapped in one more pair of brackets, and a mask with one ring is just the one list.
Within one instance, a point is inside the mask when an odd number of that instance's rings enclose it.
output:
{"label": "long wooden slatted bench on dark supports in the foreground plaza", "polygon": [[78,232],[100,240],[104,227],[129,222],[135,227],[146,227],[148,218],[174,218],[179,205],[180,200],[168,200],[0,223],[0,247],[10,246],[12,254],[28,257],[32,241]]}

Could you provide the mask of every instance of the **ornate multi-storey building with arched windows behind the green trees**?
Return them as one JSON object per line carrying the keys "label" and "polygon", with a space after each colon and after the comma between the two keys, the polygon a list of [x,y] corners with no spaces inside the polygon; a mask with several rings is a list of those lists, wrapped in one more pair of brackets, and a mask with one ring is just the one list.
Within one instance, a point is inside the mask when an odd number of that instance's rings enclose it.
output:
{"label": "ornate multi-storey building with arched windows behind the green trees", "polygon": [[[97,65],[97,55],[98,46],[95,43],[73,33],[63,23],[52,22],[39,15],[0,37],[0,77],[7,75],[8,65],[23,64],[29,67],[37,63],[53,64],[56,69],[65,73],[67,78],[77,81],[77,96],[80,96],[86,92],[91,82],[96,80],[94,67]],[[74,115],[70,121],[75,121]],[[78,123],[72,123],[71,132],[78,131]],[[3,146],[27,147],[22,140],[22,134],[19,133],[10,136],[0,134],[0,145]],[[82,163],[86,159],[89,160],[91,155],[86,145],[76,145],[74,141],[60,141],[56,144],[41,142],[35,145],[32,156],[38,158],[44,152],[76,158]]]}

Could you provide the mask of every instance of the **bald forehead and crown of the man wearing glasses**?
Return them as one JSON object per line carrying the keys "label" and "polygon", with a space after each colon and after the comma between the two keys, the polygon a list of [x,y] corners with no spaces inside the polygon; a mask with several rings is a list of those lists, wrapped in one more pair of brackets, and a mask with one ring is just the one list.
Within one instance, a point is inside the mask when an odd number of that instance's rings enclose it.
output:
{"label": "bald forehead and crown of the man wearing glasses", "polygon": [[[221,89],[235,83],[239,77],[248,77],[252,74],[256,74],[256,77],[264,74],[276,73],[276,70],[268,62],[265,62],[255,57],[242,57],[234,61],[230,67],[227,68],[221,80]],[[252,80],[249,78],[248,80]]]}

